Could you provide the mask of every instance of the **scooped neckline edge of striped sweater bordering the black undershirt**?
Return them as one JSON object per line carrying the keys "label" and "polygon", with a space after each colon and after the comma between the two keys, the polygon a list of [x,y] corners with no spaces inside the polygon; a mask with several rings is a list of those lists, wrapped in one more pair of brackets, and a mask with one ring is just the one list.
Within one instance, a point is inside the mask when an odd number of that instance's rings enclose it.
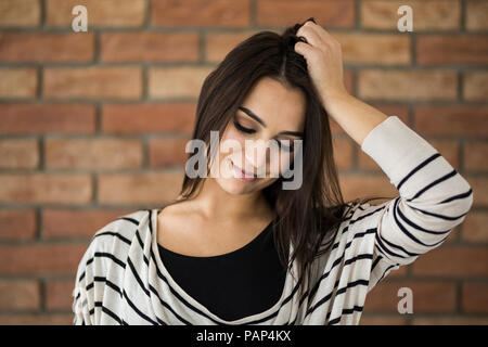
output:
{"label": "scooped neckline edge of striped sweater bordering the black undershirt", "polygon": [[[169,271],[166,269],[166,267],[164,266],[163,261],[162,261],[162,257],[159,254],[159,244],[157,243],[157,216],[158,213],[162,210],[163,208],[154,208],[152,209],[152,214],[151,216],[151,220],[149,220],[149,223],[152,227],[152,252],[155,255],[155,264],[156,267],[158,268],[158,270],[163,273],[164,278],[167,280],[167,284],[170,286],[170,288],[172,288],[174,291],[176,291],[176,293],[181,296],[185,303],[190,304],[190,306],[195,307],[197,310],[200,310],[201,312],[204,312],[207,318],[210,318],[213,321],[216,321],[220,324],[243,324],[243,323],[248,323],[255,320],[260,320],[262,318],[266,317],[277,317],[278,314],[275,312],[280,311],[282,305],[285,305],[286,303],[283,304],[285,297],[287,297],[287,295],[290,295],[293,291],[293,277],[290,273],[290,271],[286,271],[286,279],[285,279],[285,284],[283,286],[283,292],[281,294],[280,299],[270,308],[266,309],[262,312],[259,313],[255,313],[252,316],[246,316],[236,320],[224,320],[220,317],[218,317],[217,314],[215,314],[214,312],[211,312],[210,310],[208,310],[203,304],[201,304],[200,301],[197,301],[195,298],[193,298],[190,294],[188,294],[176,281],[175,279],[172,279],[172,277],[169,274]],[[269,226],[268,226],[269,227]],[[262,232],[261,232],[262,234]],[[260,235],[261,235],[260,234]],[[259,237],[259,235],[257,236]],[[254,240],[256,240],[257,237],[255,237]],[[242,248],[240,248],[242,249]],[[239,249],[237,249],[239,250]],[[292,254],[293,252],[293,246],[290,245],[290,254]],[[290,260],[290,254],[288,254],[288,260]],[[293,271],[297,271],[296,268],[296,262],[294,262],[294,270]],[[162,280],[163,281],[163,280]],[[288,301],[288,300],[286,300]],[[187,305],[187,304],[185,304]],[[187,305],[189,306],[189,305]],[[190,308],[189,308],[190,309]],[[274,314],[273,314],[274,313]]]}

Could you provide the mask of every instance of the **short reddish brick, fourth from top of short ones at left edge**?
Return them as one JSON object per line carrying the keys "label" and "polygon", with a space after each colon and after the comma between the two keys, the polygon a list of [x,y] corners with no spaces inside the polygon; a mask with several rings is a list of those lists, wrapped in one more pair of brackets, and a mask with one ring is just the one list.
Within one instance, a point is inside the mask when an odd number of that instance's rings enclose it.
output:
{"label": "short reddish brick, fourth from top of short ones at left edge", "polygon": [[34,240],[37,218],[34,209],[0,210],[0,240]]}

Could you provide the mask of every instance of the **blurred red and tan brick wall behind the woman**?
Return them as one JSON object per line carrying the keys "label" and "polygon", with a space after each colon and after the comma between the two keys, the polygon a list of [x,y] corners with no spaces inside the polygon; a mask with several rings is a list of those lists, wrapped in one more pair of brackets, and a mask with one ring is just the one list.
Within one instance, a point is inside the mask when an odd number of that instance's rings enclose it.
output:
{"label": "blurred red and tan brick wall behind the woman", "polygon": [[[88,8],[88,33],[70,27]],[[396,29],[413,8],[414,31]],[[314,16],[350,93],[399,116],[472,184],[465,222],[393,272],[363,324],[488,323],[488,1],[0,0],[0,324],[70,324],[74,273],[113,218],[165,204],[203,79],[237,42]],[[333,123],[345,198],[397,194]],[[398,288],[413,291],[399,314]]]}

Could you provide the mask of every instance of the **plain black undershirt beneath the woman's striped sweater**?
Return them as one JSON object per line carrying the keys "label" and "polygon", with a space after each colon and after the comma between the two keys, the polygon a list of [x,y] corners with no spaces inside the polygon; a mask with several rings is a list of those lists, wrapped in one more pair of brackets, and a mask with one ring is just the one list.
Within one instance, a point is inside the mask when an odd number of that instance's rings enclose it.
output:
{"label": "plain black undershirt beneath the woman's striped sweater", "polygon": [[245,246],[214,257],[192,257],[158,244],[178,285],[210,312],[236,320],[266,311],[280,299],[286,272],[273,243],[272,222]]}

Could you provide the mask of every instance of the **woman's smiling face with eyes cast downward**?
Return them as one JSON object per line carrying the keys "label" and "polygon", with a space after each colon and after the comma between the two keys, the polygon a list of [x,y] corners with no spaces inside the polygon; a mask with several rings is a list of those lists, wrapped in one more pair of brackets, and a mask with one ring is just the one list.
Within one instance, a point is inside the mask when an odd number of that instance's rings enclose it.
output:
{"label": "woman's smiling face with eyes cast downward", "polygon": [[218,184],[231,194],[248,194],[277,181],[298,151],[294,140],[304,139],[305,107],[300,90],[260,79],[222,134]]}

